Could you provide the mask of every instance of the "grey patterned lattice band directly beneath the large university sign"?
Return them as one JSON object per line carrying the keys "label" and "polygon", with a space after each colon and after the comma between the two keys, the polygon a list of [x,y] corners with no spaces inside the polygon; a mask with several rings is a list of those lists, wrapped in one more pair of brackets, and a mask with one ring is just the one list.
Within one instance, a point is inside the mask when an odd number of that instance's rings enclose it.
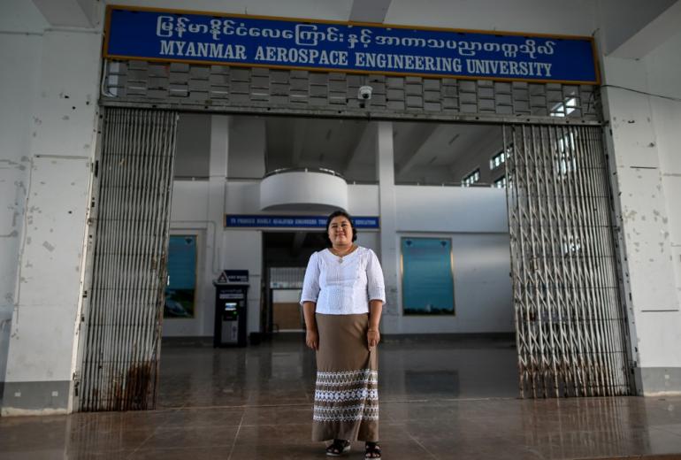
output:
{"label": "grey patterned lattice band directly beneath the large university sign", "polygon": [[[104,104],[199,111],[295,113],[386,119],[570,118],[598,121],[599,95],[589,85],[524,81],[355,75],[260,67],[107,61]],[[369,103],[357,99],[371,85]],[[567,107],[565,107],[567,105]],[[478,118],[479,117],[479,118]]]}

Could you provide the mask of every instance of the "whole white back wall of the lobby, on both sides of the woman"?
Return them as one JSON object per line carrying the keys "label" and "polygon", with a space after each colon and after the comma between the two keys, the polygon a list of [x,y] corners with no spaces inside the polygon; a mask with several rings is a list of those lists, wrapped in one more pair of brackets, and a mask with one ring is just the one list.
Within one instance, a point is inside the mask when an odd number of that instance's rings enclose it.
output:
{"label": "whole white back wall of the lobby, on both sides of the woman", "polygon": [[[231,152],[230,152],[231,157]],[[205,222],[206,181],[176,180],[172,198],[172,229],[201,228],[210,234]],[[258,214],[257,180],[226,182],[226,213]],[[348,211],[357,216],[379,215],[379,186],[349,185]],[[495,188],[396,186],[395,244],[402,236],[446,236],[452,238],[455,257],[455,304],[453,318],[400,318],[394,325],[386,323],[386,333],[478,333],[512,332],[513,316],[509,280],[509,236],[504,190]],[[195,221],[193,225],[191,221]],[[262,231],[253,229],[221,230],[221,222],[210,222],[222,233],[217,254],[206,253],[207,263],[199,286],[202,299],[196,318],[166,321],[164,335],[212,335],[212,284],[217,275],[209,266],[220,269],[247,269],[251,276],[249,291],[249,332],[259,330],[262,277]],[[379,254],[378,232],[359,231],[357,242]],[[213,267],[218,268],[218,267]],[[399,269],[399,267],[396,267]],[[214,270],[213,273],[218,273]],[[391,305],[401,312],[401,286],[398,303]],[[203,318],[203,319],[201,319]],[[194,323],[194,326],[187,326]]]}

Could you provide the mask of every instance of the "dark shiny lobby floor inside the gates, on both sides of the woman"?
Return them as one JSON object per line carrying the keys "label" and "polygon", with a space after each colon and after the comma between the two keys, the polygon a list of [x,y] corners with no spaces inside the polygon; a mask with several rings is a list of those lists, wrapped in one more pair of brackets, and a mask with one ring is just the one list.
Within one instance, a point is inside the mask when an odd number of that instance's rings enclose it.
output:
{"label": "dark shiny lobby floor inside the gates, on both sides of the woman", "polygon": [[[311,403],[315,357],[302,334],[279,334],[249,349],[216,352],[210,343],[166,343],[160,407]],[[389,339],[379,349],[381,402],[518,395],[510,339]]]}

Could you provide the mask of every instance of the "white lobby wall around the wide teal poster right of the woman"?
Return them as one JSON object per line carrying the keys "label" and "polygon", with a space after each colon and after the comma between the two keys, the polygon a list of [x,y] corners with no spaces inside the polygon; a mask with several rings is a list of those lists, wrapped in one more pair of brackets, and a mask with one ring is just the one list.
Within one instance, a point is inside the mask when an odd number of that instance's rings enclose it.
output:
{"label": "white lobby wall around the wide teal poster right of the woman", "polygon": [[403,236],[451,238],[455,272],[455,317],[402,317],[398,332],[513,332],[505,191],[397,186],[395,196],[398,248]]}

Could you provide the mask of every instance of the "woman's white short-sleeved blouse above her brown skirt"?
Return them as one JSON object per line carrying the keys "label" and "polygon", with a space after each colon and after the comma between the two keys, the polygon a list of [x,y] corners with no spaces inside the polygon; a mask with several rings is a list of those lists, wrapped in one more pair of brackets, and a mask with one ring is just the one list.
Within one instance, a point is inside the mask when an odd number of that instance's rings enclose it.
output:
{"label": "woman's white short-sleeved blouse above her brown skirt", "polygon": [[314,302],[317,313],[353,315],[368,313],[370,300],[386,302],[379,257],[371,249],[359,246],[342,259],[329,249],[310,256],[302,282],[301,305]]}

